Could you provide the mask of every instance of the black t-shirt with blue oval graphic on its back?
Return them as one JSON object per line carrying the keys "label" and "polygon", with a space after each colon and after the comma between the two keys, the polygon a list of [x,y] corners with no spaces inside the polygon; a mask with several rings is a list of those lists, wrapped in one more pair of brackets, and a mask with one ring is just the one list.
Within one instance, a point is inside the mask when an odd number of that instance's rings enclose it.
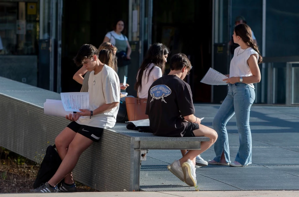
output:
{"label": "black t-shirt with blue oval graphic on its back", "polygon": [[146,114],[156,136],[182,137],[187,122],[184,116],[195,114],[189,84],[174,75],[164,75],[149,88]]}

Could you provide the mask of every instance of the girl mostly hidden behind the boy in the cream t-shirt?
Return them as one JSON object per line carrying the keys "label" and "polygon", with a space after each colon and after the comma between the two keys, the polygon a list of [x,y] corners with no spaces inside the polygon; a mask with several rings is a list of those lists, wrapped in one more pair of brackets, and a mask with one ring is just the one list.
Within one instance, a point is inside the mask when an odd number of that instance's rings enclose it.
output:
{"label": "girl mostly hidden behind the boy in the cream t-shirt", "polygon": [[[100,45],[98,51],[100,52],[100,50],[106,49],[106,48],[111,48],[113,50],[114,54],[116,54],[117,48],[114,46],[114,44],[111,44],[110,42],[103,42]],[[105,62],[104,64],[112,67],[113,70],[115,70],[115,72],[117,72],[117,60],[116,59],[114,60],[114,62],[111,62],[111,63]],[[80,92],[88,92],[89,74],[90,74],[90,72],[88,72],[86,70],[86,68],[84,68],[83,66],[74,74],[73,79],[75,81],[77,81],[79,84],[82,84]],[[84,78],[83,78],[83,76],[84,76]],[[129,87],[129,84],[124,85],[123,83],[120,83],[120,89],[126,90],[127,87]],[[120,96],[124,97],[123,94],[121,94]]]}

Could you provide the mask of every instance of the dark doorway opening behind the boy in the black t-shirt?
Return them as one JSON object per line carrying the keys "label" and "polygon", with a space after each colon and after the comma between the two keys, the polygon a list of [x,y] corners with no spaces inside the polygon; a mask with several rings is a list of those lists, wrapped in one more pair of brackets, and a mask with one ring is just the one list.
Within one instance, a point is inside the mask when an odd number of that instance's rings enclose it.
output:
{"label": "dark doorway opening behind the boy in the black t-shirt", "polygon": [[[152,23],[153,43],[166,44],[169,57],[175,53],[189,57],[193,68],[185,80],[191,86],[193,101],[210,102],[211,86],[200,80],[212,64],[212,1],[153,1]],[[167,69],[169,72],[169,65]]]}

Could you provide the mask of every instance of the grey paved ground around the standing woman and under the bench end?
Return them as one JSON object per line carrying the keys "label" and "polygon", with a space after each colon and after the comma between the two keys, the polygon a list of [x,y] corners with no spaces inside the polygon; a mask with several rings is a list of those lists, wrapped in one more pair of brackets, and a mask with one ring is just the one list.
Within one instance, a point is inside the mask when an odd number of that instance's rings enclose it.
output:
{"label": "grey paved ground around the standing woman and under the bench end", "polygon": [[[196,116],[212,127],[219,105],[196,104]],[[141,165],[143,192],[72,193],[51,196],[299,196],[299,107],[254,105],[251,110],[252,164],[248,167],[208,165],[196,170],[197,189],[167,170],[181,157],[178,150],[150,150]],[[228,122],[231,161],[239,146],[235,117]],[[213,147],[202,154],[215,156]],[[294,191],[295,190],[295,191]],[[1,194],[1,197],[46,194]]]}

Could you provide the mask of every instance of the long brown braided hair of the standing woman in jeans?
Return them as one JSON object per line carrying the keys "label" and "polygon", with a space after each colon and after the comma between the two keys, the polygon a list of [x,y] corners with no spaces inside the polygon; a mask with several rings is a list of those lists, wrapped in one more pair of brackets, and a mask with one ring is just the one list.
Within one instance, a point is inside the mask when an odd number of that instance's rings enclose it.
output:
{"label": "long brown braided hair of the standing woman in jeans", "polygon": [[257,63],[260,64],[263,62],[263,57],[260,54],[259,47],[257,44],[254,43],[252,39],[251,34],[251,28],[247,24],[238,24],[235,29],[236,36],[240,36],[242,40],[247,44],[249,47],[251,47],[253,50],[255,50],[259,54],[259,59],[257,60]]}

